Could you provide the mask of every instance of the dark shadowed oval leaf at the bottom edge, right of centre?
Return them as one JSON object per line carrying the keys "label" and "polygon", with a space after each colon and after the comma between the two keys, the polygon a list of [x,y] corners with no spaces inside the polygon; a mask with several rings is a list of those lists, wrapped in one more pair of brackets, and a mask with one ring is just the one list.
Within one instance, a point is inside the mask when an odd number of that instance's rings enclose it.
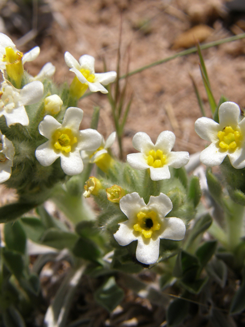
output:
{"label": "dark shadowed oval leaf at the bottom edge, right of centre", "polygon": [[174,327],[180,324],[187,316],[189,311],[189,302],[177,298],[167,308],[167,325],[169,327]]}

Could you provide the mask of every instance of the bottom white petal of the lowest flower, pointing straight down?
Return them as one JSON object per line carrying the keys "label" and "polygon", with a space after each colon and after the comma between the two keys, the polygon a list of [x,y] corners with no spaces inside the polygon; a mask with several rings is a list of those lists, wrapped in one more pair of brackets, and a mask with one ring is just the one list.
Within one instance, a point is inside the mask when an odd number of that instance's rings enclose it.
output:
{"label": "bottom white petal of the lowest flower, pointing straight down", "polygon": [[138,238],[138,245],[136,248],[136,259],[142,264],[151,265],[155,264],[159,257],[159,243],[157,238],[145,239],[143,236]]}

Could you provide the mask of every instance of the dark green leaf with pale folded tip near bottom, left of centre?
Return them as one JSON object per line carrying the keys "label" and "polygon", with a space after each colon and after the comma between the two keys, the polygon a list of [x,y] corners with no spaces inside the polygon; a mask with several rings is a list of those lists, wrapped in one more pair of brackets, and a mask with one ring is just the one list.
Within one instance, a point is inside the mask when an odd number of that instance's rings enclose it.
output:
{"label": "dark green leaf with pale folded tip near bottom, left of centre", "polygon": [[94,293],[94,299],[99,305],[112,312],[124,298],[124,291],[119,288],[112,276]]}

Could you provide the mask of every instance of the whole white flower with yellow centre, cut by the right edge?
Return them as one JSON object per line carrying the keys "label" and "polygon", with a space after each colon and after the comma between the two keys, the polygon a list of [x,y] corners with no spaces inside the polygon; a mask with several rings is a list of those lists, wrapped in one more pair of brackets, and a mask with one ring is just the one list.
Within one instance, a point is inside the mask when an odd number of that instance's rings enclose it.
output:
{"label": "whole white flower with yellow centre, cut by the right edge", "polygon": [[195,122],[198,135],[212,142],[200,154],[200,161],[209,167],[218,166],[230,158],[236,169],[245,167],[245,119],[240,121],[240,109],[234,102],[224,102],[218,109],[219,124],[202,117]]}

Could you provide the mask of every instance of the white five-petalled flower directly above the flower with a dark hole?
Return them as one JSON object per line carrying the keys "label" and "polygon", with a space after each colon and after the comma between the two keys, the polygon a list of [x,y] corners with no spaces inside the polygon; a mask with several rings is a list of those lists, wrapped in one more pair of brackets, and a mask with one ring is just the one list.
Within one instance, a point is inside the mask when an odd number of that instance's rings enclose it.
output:
{"label": "white five-petalled flower directly above the flower with a dark hole", "polygon": [[134,169],[149,169],[152,180],[170,178],[168,166],[180,168],[189,161],[189,153],[171,151],[175,144],[175,134],[170,131],[161,132],[154,145],[151,138],[144,132],[133,137],[133,146],[140,153],[127,155],[127,161]]}

